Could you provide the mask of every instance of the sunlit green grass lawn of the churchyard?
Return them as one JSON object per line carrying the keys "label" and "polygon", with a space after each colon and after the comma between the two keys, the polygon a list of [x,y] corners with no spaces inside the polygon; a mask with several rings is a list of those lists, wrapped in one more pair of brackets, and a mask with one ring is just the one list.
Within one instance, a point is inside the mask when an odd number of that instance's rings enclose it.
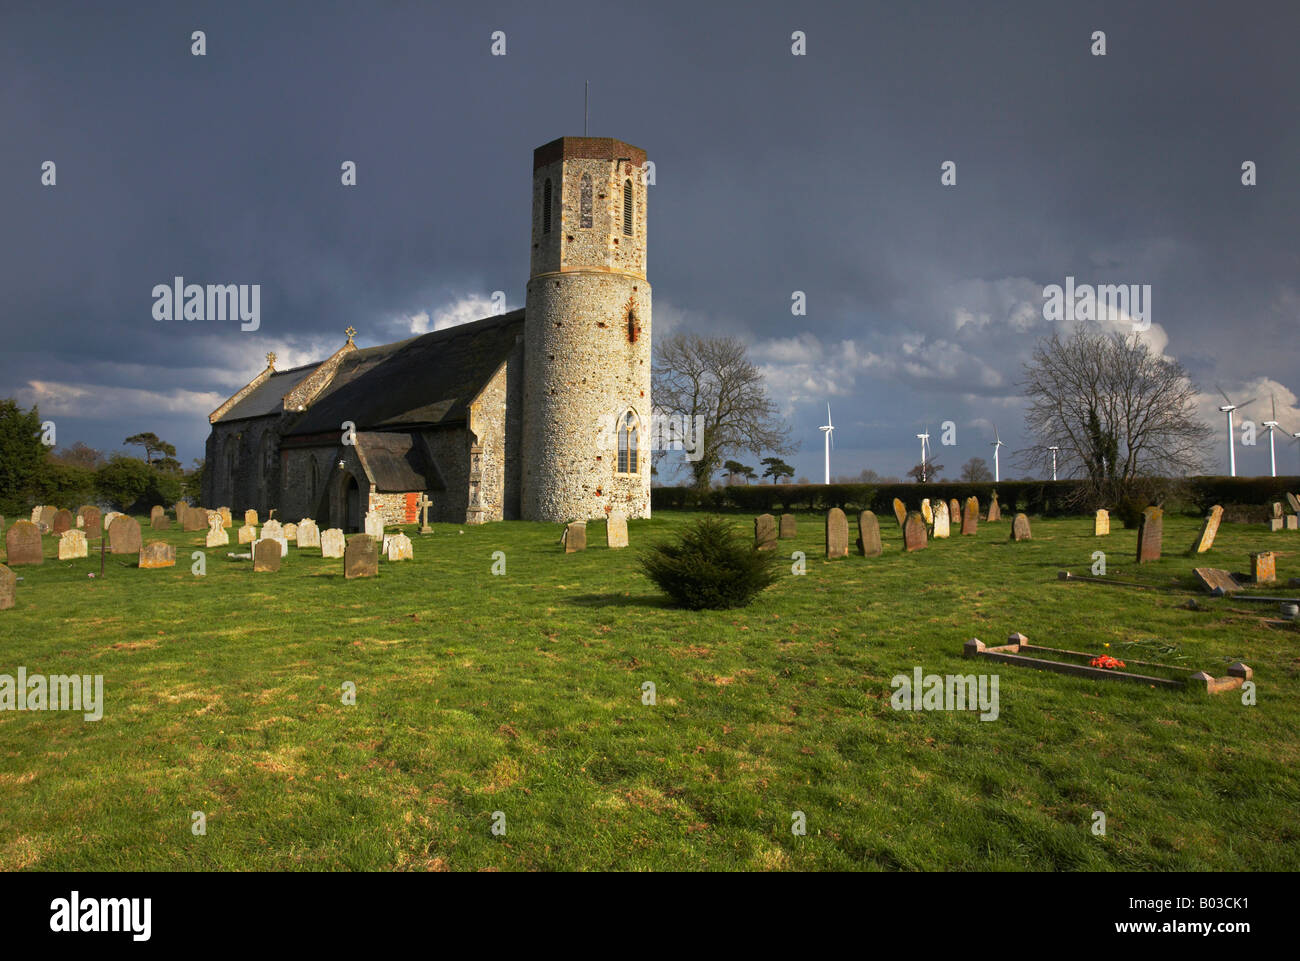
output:
{"label": "sunlit green grass lawn of the churchyard", "polygon": [[[827,562],[822,518],[800,515],[780,550],[806,575],[684,612],[636,562],[690,518],[632,521],[623,551],[592,524],[572,555],[554,524],[407,528],[415,562],[358,581],[294,546],[255,575],[226,557],[248,549],[234,532],[198,577],[203,534],[178,531],[159,536],[176,568],[109,555],[90,579],[98,554],[58,562],[47,537],[43,566],[14,568],[0,674],[101,674],[107,704],[95,723],[0,714],[0,867],[1300,869],[1296,628],[1274,605],[1057,580],[1104,550],[1110,577],[1192,590],[1193,563],[1274,549],[1268,593],[1300,594],[1300,533],[1225,524],[1192,562],[1200,521],[1170,516],[1139,568],[1118,521],[1035,520],[1011,544],[1008,518],[904,554],[881,518],[883,557]],[[1242,659],[1258,704],[961,657],[1013,631],[1216,675]],[[997,674],[997,720],[894,711],[916,666]]]}

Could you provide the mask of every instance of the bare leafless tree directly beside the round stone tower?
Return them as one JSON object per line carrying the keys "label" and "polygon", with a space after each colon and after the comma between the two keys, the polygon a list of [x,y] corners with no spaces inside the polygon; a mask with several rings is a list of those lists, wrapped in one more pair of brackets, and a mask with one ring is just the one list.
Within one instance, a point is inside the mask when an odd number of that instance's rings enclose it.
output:
{"label": "bare leafless tree directly beside the round stone tower", "polygon": [[734,337],[672,334],[658,342],[654,402],[660,416],[703,417],[689,460],[696,486],[707,488],[727,454],[790,454],[789,427],[767,395],[763,377]]}

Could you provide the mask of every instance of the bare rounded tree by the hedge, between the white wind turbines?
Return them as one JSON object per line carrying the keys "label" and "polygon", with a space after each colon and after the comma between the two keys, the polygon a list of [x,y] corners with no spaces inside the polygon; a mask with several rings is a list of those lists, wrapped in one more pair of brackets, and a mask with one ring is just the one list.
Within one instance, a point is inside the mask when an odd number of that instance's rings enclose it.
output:
{"label": "bare rounded tree by the hedge, between the white wind turbines", "polygon": [[1196,417],[1196,386],[1136,336],[1079,324],[1065,339],[1041,339],[1024,373],[1024,421],[1037,443],[1018,453],[1022,466],[1050,469],[1060,447],[1058,475],[1086,479],[1098,502],[1205,468],[1212,429]]}

